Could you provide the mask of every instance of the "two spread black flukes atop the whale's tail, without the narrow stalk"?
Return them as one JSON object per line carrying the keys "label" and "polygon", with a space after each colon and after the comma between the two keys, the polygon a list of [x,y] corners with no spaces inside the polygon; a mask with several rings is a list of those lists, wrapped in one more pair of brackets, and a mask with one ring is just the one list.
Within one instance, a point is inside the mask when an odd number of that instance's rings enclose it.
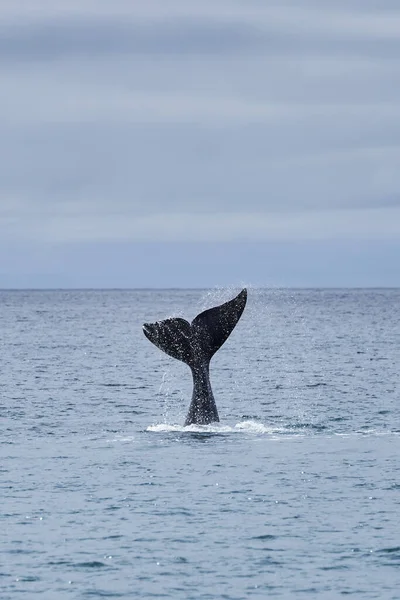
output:
{"label": "two spread black flukes atop the whale's tail, without the narrow stalk", "polygon": [[165,319],[145,323],[143,333],[160,350],[190,367],[209,363],[235,328],[246,301],[245,288],[232,300],[200,313],[191,324],[180,318]]}

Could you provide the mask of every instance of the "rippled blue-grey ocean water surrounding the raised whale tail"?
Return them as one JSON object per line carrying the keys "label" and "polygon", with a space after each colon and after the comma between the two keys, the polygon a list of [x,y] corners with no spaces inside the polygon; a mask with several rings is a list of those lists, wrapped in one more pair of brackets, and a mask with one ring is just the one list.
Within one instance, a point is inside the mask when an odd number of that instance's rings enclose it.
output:
{"label": "rippled blue-grey ocean water surrounding the raised whale tail", "polygon": [[145,338],[239,290],[0,292],[0,598],[400,598],[400,290],[252,290],[184,428]]}

